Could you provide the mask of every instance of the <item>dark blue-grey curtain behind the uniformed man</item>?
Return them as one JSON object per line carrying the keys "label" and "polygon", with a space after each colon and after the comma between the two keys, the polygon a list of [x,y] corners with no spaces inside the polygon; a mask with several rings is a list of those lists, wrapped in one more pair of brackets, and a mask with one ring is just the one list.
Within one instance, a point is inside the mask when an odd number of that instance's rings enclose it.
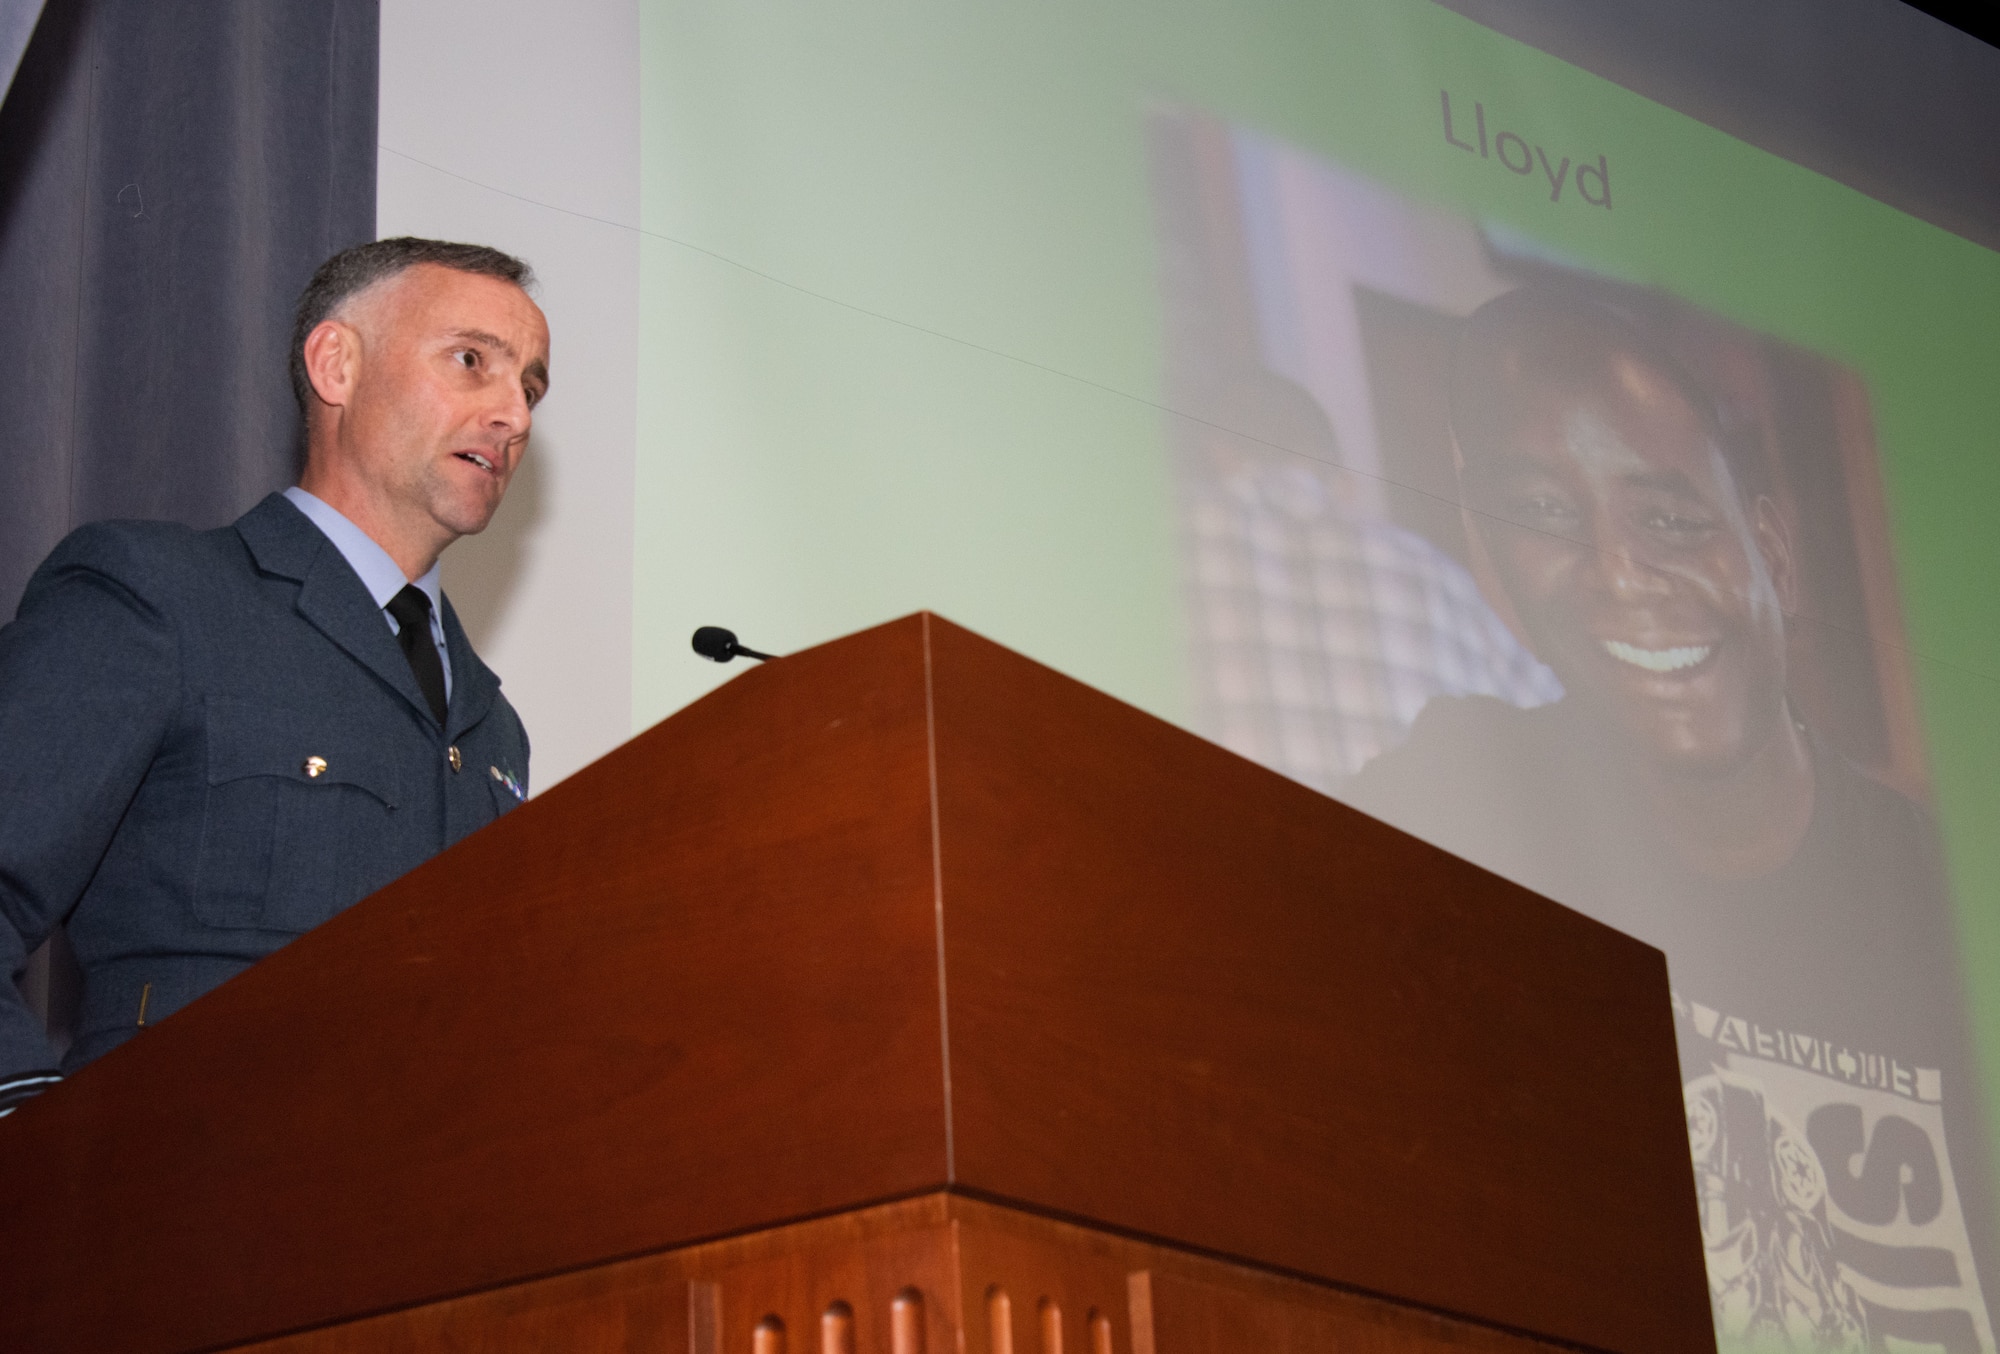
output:
{"label": "dark blue-grey curtain behind the uniformed man", "polygon": [[[98,518],[292,482],[292,302],[374,238],[378,0],[48,0],[0,104],[0,618]],[[60,1026],[60,944],[22,986]]]}

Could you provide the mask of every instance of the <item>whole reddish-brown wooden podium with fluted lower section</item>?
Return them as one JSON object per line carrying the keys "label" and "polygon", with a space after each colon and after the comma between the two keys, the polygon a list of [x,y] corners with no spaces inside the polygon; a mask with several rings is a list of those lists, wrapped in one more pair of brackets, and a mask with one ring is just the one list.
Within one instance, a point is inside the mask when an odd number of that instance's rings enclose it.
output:
{"label": "whole reddish-brown wooden podium with fluted lower section", "polygon": [[30,1102],[0,1198],[38,1354],[1714,1348],[1656,950],[934,616]]}

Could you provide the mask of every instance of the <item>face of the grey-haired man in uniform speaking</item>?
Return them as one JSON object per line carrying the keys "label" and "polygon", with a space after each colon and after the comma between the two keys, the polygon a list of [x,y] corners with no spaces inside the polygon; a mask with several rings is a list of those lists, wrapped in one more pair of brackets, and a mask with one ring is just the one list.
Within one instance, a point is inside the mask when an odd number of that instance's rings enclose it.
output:
{"label": "face of the grey-haired man in uniform speaking", "polygon": [[548,390],[548,322],[512,282],[418,264],[340,316],[360,338],[342,454],[384,506],[450,536],[500,508]]}

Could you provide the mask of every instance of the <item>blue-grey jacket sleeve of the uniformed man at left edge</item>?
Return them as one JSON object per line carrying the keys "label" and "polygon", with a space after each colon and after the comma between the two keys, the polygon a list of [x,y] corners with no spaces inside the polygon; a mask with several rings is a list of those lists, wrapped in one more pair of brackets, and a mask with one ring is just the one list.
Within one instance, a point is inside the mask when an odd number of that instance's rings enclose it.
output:
{"label": "blue-grey jacket sleeve of the uniformed man at left edge", "polygon": [[18,980],[82,896],[178,704],[178,644],[116,528],[82,528],[0,630],[0,1112],[56,1068]]}

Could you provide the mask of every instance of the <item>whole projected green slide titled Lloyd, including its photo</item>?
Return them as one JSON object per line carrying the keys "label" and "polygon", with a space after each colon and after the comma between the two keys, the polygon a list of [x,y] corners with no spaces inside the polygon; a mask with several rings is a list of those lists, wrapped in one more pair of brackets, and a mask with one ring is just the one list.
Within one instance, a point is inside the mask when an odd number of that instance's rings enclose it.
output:
{"label": "whole projected green slide titled Lloyd, including its photo", "polygon": [[930,608],[1360,804],[1668,952],[1724,1348],[1996,1348],[2000,258],[1426,0],[644,12],[642,722]]}

